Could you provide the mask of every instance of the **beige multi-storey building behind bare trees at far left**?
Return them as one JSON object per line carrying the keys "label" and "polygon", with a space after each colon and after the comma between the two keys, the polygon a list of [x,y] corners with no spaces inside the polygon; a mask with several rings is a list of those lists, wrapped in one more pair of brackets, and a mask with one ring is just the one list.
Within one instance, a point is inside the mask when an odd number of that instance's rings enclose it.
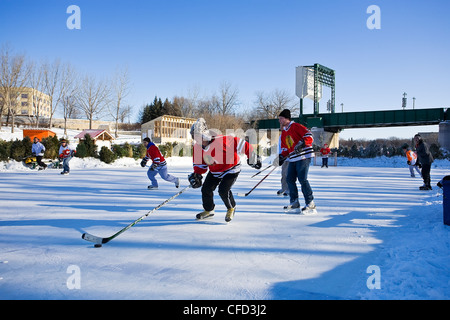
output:
{"label": "beige multi-storey building behind bare trees at far left", "polygon": [[[48,94],[39,90],[22,87],[13,89],[15,101],[12,106],[15,107],[16,115],[34,117],[39,115],[41,118],[50,118],[52,113],[52,99]],[[3,94],[0,93],[0,103],[3,103]],[[7,115],[8,108],[3,108],[3,115]]]}

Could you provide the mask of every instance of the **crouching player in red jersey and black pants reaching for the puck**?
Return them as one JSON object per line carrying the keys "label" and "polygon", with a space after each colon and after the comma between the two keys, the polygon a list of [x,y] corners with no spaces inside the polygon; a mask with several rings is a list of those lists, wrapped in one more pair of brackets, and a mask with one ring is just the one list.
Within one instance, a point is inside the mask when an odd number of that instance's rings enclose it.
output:
{"label": "crouching player in red jersey and black pants reaching for the puck", "polygon": [[[245,140],[232,136],[212,136],[206,122],[199,118],[191,127],[191,136],[195,141],[193,147],[194,172],[188,177],[192,188],[202,187],[202,204],[204,211],[197,214],[197,219],[214,216],[214,190],[219,187],[227,213],[225,221],[230,222],[235,214],[236,202],[231,187],[241,171],[239,153],[247,155],[247,164],[255,169],[261,168],[261,159],[253,152],[252,146]],[[202,174],[206,173],[202,183]]]}

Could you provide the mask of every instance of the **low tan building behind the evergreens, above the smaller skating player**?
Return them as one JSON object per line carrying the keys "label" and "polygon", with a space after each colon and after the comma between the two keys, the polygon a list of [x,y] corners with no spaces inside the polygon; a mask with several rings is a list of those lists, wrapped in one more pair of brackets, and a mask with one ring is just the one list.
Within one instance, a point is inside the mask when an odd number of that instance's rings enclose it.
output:
{"label": "low tan building behind the evergreens, above the smaller skating player", "polygon": [[164,115],[142,124],[142,139],[149,137],[156,144],[190,143],[190,130],[197,119]]}

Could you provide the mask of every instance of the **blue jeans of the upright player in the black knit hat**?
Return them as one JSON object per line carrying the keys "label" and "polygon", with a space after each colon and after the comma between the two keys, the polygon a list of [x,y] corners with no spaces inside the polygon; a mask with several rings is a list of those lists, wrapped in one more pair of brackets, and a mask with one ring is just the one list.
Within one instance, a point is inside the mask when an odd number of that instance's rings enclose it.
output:
{"label": "blue jeans of the upright player in the black knit hat", "polygon": [[306,205],[314,200],[311,186],[308,181],[308,171],[311,158],[305,160],[299,160],[296,162],[289,162],[288,173],[286,181],[289,187],[289,197],[291,203],[298,199],[297,179],[302,187],[303,197],[305,198]]}

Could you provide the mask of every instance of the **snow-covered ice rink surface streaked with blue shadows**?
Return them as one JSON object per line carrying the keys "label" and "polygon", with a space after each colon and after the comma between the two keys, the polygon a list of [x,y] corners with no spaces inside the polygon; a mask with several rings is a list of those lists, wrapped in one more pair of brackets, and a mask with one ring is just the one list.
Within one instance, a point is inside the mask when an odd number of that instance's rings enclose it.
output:
{"label": "snow-covered ice rink surface streaked with blue shadows", "polygon": [[[68,176],[10,162],[0,166],[0,299],[449,299],[442,190],[419,191],[404,159],[392,161],[311,167],[314,216],[283,212],[279,169],[236,196],[229,224],[217,193],[214,219],[196,221],[201,192],[190,189],[102,248],[81,235],[110,236],[179,189],[159,178],[148,191],[132,159],[74,158]],[[191,159],[168,168],[187,185]],[[244,164],[233,192],[250,190],[255,172]],[[436,162],[432,185],[448,174],[449,161]]]}

